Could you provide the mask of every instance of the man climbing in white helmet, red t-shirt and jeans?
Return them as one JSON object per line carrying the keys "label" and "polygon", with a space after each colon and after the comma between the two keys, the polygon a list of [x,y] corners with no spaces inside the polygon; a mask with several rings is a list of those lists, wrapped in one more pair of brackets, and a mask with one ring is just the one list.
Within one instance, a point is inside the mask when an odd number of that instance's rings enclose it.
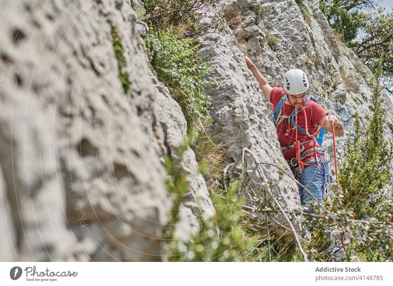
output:
{"label": "man climbing in white helmet, red t-shirt and jeans", "polygon": [[315,138],[317,128],[321,125],[330,133],[334,130],[335,136],[343,136],[344,125],[307,95],[309,80],[302,70],[287,71],[284,75],[284,88],[272,87],[253,61],[247,56],[245,59],[264,96],[273,104],[282,154],[295,178],[312,194],[299,186],[300,201],[308,204],[313,197],[322,200],[325,184],[330,184],[330,173],[328,155]]}

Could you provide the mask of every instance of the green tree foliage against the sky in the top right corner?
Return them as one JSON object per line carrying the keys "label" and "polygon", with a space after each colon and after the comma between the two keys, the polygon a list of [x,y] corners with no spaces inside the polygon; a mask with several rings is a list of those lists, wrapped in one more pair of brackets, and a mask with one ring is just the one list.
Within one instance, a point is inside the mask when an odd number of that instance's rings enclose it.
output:
{"label": "green tree foliage against the sky in the top right corner", "polygon": [[342,35],[371,70],[377,68],[383,54],[379,79],[393,94],[393,13],[386,13],[382,7],[365,12],[378,4],[378,0],[321,0],[319,8],[332,29]]}

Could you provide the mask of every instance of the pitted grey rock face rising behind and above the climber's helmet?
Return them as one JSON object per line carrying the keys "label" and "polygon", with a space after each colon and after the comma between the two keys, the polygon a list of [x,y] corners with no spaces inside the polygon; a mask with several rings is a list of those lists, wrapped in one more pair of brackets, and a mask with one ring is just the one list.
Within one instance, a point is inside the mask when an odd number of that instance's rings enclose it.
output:
{"label": "pitted grey rock face rising behind and above the climber's helmet", "polygon": [[[367,81],[372,74],[337,39],[317,4],[303,2],[308,12],[302,12],[294,0],[221,1],[238,47],[254,61],[270,85],[282,86],[282,75],[289,69],[304,70],[311,85],[309,93],[330,114],[337,115],[349,134],[354,131],[351,115],[360,114],[364,122],[370,118],[367,106],[372,90]],[[392,101],[385,98],[385,108],[391,110]],[[272,118],[271,107],[269,112]],[[388,120],[392,120],[390,113]],[[342,159],[346,139],[337,138],[338,160]],[[325,136],[324,146],[332,154],[330,134]]]}

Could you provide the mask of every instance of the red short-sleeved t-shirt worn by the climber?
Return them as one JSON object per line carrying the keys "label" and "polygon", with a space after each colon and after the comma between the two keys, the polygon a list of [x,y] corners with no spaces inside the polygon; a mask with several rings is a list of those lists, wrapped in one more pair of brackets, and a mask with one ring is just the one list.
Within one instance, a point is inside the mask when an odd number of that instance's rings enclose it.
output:
{"label": "red short-sleeved t-shirt worn by the climber", "polygon": [[[273,111],[276,110],[276,107],[279,104],[281,97],[284,95],[285,95],[285,91],[281,87],[273,88],[272,92],[270,93],[270,102],[273,104]],[[324,115],[328,114],[328,112],[313,100],[309,100],[304,108],[306,110],[306,115],[308,120],[309,134],[313,134],[317,130],[317,125],[319,121],[322,119]],[[294,107],[292,105],[284,103],[282,107],[281,115],[288,116],[292,113],[293,109]],[[301,111],[298,114],[298,125],[306,129],[305,121],[306,120],[305,120],[304,112]],[[292,124],[291,124],[291,128],[293,128]],[[288,118],[280,118],[276,126],[280,147],[292,145],[295,142],[295,138],[296,138],[295,129],[289,131],[288,130],[289,130]],[[298,140],[300,142],[308,141],[310,139],[312,138],[298,131]],[[313,147],[319,147],[319,144],[314,141],[304,143],[302,145],[305,147],[303,152]],[[290,160],[296,157],[296,149],[295,147],[292,147],[290,149],[283,150],[282,154],[284,155],[285,160]],[[309,156],[307,156],[307,159],[315,158],[315,155],[313,154],[315,153],[311,153]]]}

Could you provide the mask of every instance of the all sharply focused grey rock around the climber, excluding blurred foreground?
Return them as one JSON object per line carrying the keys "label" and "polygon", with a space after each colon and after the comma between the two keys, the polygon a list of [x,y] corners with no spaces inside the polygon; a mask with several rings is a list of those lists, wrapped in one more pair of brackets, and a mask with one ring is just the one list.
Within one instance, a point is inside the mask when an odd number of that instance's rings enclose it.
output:
{"label": "all sharply focused grey rock around the climber, excluding blurred foreground", "polygon": [[[354,131],[353,114],[361,114],[365,122],[370,118],[367,105],[372,90],[366,81],[371,72],[337,40],[317,5],[312,1],[304,3],[308,5],[307,11],[302,11],[294,0],[222,0],[228,32],[201,37],[201,54],[212,62],[214,69],[211,77],[215,85],[207,90],[213,107],[210,113],[215,122],[213,134],[228,146],[227,155],[232,161],[247,147],[259,162],[289,172],[270,119],[272,105],[264,99],[242,52],[252,58],[272,86],[282,86],[282,75],[287,70],[304,70],[311,83],[309,93],[330,114],[340,118],[347,134]],[[204,21],[211,18],[207,16]],[[388,97],[385,105],[388,110],[392,108]],[[346,136],[336,140],[339,161],[346,140]],[[333,158],[332,135],[325,136],[323,146]],[[248,162],[248,166],[252,164]],[[272,175],[275,195],[286,209],[298,208],[300,202],[293,179],[281,178],[275,167],[265,165],[263,169]],[[296,222],[295,217],[293,223]]]}

